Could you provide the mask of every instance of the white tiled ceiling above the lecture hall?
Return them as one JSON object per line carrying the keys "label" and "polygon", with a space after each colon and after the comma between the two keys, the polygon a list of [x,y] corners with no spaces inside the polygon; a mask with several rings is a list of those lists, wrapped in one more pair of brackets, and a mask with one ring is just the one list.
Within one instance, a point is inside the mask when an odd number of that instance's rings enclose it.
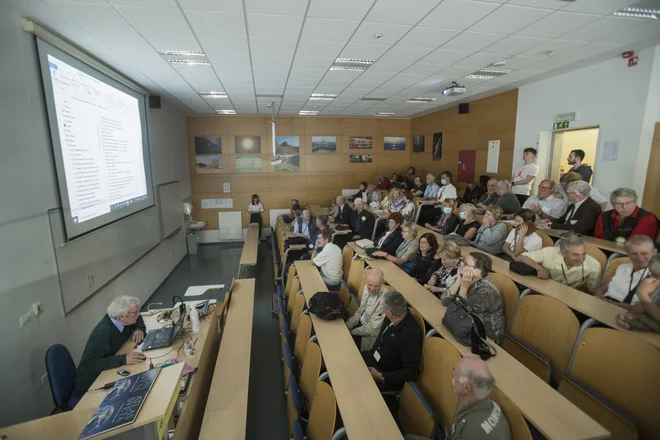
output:
{"label": "white tiled ceiling above the lecture hall", "polygon": [[[639,0],[6,0],[153,93],[192,113],[396,117],[512,89],[577,68],[635,43],[660,41],[660,20],[614,17]],[[660,0],[646,0],[645,5]],[[374,34],[382,34],[374,38]],[[158,50],[206,53],[210,66],[171,65]],[[554,52],[551,52],[554,51]],[[330,71],[337,57],[376,62]],[[169,57],[172,58],[172,57]],[[514,72],[461,79],[495,61]],[[459,97],[439,90],[451,81]],[[228,99],[203,99],[200,90]],[[334,101],[308,101],[311,93]],[[406,100],[430,96],[429,104]],[[363,97],[386,98],[383,102]]]}

